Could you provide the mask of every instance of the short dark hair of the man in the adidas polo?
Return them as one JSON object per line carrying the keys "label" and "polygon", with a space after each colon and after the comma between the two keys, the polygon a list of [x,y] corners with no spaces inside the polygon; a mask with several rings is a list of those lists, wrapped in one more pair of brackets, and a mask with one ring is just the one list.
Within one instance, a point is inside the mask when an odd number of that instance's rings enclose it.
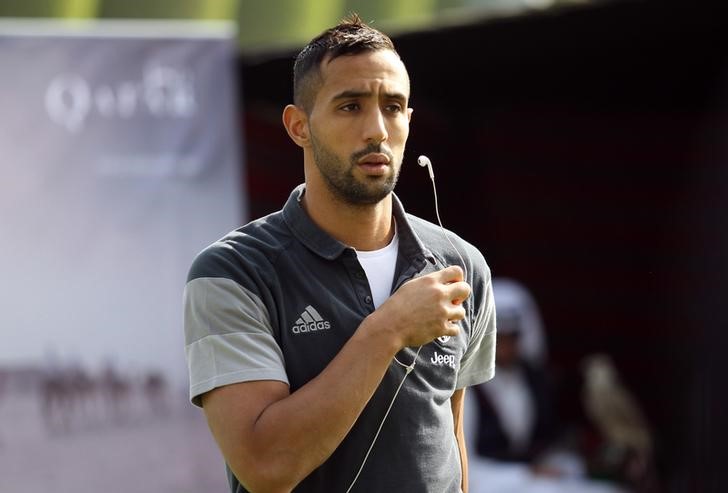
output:
{"label": "short dark hair of the man in the adidas polo", "polygon": [[394,43],[386,34],[368,26],[352,13],[336,26],[313,38],[298,54],[293,64],[293,102],[310,113],[321,83],[321,63],[343,55],[365,51],[391,50]]}

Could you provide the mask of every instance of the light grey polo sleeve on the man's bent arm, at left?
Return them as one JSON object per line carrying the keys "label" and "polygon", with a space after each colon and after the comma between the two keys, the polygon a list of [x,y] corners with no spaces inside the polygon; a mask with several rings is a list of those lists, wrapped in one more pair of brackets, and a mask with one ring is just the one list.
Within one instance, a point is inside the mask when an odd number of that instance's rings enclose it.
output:
{"label": "light grey polo sleeve on the man's bent arm, at left", "polygon": [[190,400],[216,387],[252,380],[288,384],[283,353],[266,306],[225,277],[196,277],[184,290],[185,355]]}

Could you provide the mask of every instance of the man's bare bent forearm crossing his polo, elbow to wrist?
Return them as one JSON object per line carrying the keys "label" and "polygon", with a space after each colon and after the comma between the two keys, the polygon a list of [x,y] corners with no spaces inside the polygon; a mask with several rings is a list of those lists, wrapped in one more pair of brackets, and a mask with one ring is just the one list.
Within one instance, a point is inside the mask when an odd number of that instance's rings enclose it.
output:
{"label": "man's bare bent forearm crossing his polo, elbow to wrist", "polygon": [[[377,336],[379,334],[379,336]],[[251,491],[290,491],[334,452],[399,350],[387,334],[358,330],[314,379],[263,409],[239,438],[211,429],[236,477]],[[210,402],[205,402],[206,412]],[[247,438],[243,438],[247,437]],[[246,440],[241,447],[239,440]]]}

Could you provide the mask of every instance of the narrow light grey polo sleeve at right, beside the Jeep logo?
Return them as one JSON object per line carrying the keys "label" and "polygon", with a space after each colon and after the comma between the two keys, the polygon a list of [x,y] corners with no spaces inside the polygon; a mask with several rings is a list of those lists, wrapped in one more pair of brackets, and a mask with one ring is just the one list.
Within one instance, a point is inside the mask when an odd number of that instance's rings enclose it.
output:
{"label": "narrow light grey polo sleeve at right, beside the Jeep logo", "polygon": [[465,354],[460,360],[460,370],[455,387],[458,389],[477,385],[495,375],[495,302],[488,265],[483,255],[473,248],[473,317],[470,338]]}

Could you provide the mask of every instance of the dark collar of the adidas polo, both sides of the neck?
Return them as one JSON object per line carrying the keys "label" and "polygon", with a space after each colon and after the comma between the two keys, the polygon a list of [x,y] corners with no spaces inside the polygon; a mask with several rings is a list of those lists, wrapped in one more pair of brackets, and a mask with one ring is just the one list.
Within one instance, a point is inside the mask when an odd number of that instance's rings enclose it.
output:
{"label": "dark collar of the adidas polo, both sides of the neck", "polygon": [[[333,260],[349,247],[319,228],[306,214],[301,206],[301,198],[303,198],[305,191],[305,184],[298,185],[293,189],[283,206],[283,219],[301,243],[317,255]],[[432,252],[425,248],[413,231],[407,220],[402,202],[394,193],[392,194],[392,215],[397,221],[400,252],[409,258],[425,257],[430,261],[434,261]]]}

